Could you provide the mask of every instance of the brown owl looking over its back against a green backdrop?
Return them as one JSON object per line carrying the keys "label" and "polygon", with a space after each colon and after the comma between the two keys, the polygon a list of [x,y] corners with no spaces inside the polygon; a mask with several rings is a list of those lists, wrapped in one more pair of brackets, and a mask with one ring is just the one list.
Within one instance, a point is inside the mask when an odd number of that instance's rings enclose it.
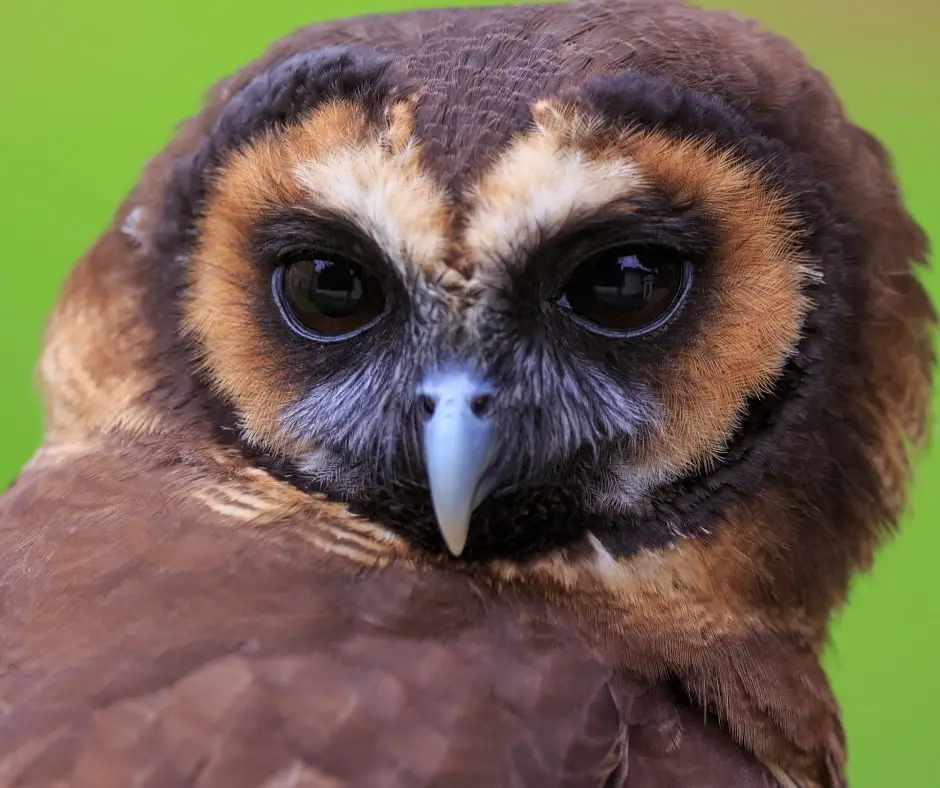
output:
{"label": "brown owl looking over its back against a green backdrop", "polygon": [[934,313],[883,147],[670,0],[313,25],[77,263],[0,785],[836,788]]}

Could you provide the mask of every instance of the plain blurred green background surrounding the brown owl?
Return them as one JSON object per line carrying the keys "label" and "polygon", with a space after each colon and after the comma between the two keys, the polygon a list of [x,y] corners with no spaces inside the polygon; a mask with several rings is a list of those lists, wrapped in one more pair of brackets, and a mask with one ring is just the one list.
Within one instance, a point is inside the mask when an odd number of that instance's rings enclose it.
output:
{"label": "plain blurred green background surrounding the brown owl", "polygon": [[[0,489],[40,438],[31,370],[63,275],[205,88],[301,24],[444,1],[0,0]],[[940,239],[938,0],[705,4],[795,39],[889,146],[910,208]],[[936,297],[940,275],[927,279]],[[919,463],[902,536],[834,628],[855,788],[940,787],[937,455]]]}

